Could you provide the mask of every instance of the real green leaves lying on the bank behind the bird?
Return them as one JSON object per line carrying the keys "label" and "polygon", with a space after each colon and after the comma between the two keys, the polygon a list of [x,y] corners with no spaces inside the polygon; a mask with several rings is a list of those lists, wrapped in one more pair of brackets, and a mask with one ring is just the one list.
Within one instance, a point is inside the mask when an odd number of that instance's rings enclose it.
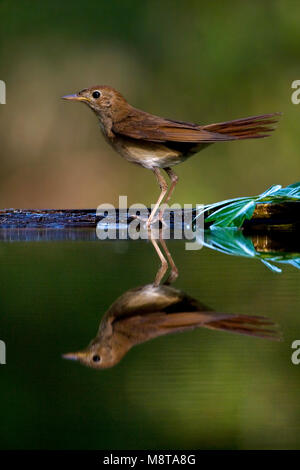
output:
{"label": "real green leaves lying on the bank behind the bird", "polygon": [[210,229],[216,227],[240,228],[245,220],[251,219],[257,203],[283,203],[300,200],[300,182],[286,188],[271,186],[259,196],[240,197],[209,204],[197,215],[210,212],[205,222],[210,222]]}

